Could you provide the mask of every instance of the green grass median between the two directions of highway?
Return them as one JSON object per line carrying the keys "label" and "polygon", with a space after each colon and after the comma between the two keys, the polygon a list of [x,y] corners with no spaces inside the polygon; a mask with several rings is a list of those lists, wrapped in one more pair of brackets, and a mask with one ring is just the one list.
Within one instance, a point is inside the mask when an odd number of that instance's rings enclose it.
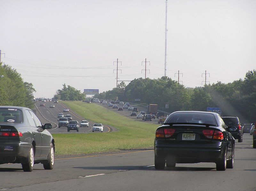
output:
{"label": "green grass median between the two directions of highway", "polygon": [[53,134],[56,155],[77,155],[154,146],[157,125],[134,121],[97,104],[81,101],[63,101],[61,103],[84,119],[115,127],[118,132]]}

